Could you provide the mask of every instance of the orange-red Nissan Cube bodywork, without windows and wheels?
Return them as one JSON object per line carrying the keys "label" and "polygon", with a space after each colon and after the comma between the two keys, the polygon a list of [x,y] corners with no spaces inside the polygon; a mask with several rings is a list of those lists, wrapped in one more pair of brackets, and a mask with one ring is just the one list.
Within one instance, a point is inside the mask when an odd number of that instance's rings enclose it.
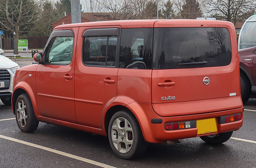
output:
{"label": "orange-red Nissan Cube bodywork, without windows and wheels", "polygon": [[[181,69],[107,68],[85,66],[83,63],[83,34],[88,29],[119,28],[123,31],[169,27],[227,29],[232,46],[230,63]],[[220,122],[221,117],[243,114],[236,32],[232,23],[126,20],[61,25],[53,32],[57,30],[71,30],[74,33],[72,60],[67,65],[51,65],[43,61],[17,69],[12,96],[13,113],[17,108],[15,102],[18,96],[27,93],[38,121],[107,136],[111,117],[125,109],[136,117],[144,140],[154,143],[220,134],[238,130],[242,126],[242,117],[233,122]],[[174,130],[175,124],[172,130],[166,130],[166,123],[210,118],[216,120],[215,132],[198,134],[196,127]]]}

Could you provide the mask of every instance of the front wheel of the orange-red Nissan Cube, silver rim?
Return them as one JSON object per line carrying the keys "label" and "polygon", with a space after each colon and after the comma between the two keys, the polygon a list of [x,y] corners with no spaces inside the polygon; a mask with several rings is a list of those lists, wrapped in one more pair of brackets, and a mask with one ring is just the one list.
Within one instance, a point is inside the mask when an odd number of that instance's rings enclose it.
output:
{"label": "front wheel of the orange-red Nissan Cube, silver rim", "polygon": [[39,121],[36,120],[34,109],[28,94],[21,94],[15,106],[15,116],[18,127],[22,132],[33,132]]}

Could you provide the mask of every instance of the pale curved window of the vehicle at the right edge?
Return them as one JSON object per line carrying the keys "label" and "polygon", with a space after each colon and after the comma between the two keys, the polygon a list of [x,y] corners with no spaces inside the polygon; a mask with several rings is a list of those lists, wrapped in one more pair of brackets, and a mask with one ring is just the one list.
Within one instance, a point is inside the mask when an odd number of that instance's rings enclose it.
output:
{"label": "pale curved window of the vehicle at the right edge", "polygon": [[240,33],[240,48],[249,48],[256,46],[256,21],[246,22],[243,31]]}

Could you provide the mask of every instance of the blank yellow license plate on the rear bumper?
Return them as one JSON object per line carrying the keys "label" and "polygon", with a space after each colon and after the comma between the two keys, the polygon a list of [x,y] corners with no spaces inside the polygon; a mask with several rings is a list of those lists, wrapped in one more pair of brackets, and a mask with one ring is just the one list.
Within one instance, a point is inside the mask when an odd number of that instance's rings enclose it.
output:
{"label": "blank yellow license plate on the rear bumper", "polygon": [[217,132],[216,118],[196,120],[197,134]]}

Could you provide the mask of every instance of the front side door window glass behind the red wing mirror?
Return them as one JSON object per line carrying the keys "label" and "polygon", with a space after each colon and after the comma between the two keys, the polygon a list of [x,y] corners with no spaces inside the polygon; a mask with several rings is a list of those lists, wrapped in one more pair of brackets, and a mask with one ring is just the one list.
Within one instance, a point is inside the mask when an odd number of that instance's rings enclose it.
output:
{"label": "front side door window glass behind the red wing mirror", "polygon": [[68,65],[73,55],[73,37],[53,37],[45,52],[45,63]]}

